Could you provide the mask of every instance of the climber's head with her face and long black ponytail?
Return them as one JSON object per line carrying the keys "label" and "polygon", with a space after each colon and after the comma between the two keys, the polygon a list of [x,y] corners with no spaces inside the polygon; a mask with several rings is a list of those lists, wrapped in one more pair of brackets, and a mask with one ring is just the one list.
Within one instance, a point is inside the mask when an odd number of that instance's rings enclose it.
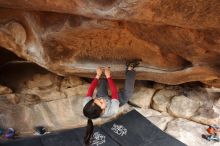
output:
{"label": "climber's head with her face and long black ponytail", "polygon": [[102,98],[91,99],[83,108],[83,114],[88,118],[86,134],[84,137],[85,145],[90,144],[90,138],[93,133],[92,119],[96,119],[101,116],[106,107],[106,102]]}

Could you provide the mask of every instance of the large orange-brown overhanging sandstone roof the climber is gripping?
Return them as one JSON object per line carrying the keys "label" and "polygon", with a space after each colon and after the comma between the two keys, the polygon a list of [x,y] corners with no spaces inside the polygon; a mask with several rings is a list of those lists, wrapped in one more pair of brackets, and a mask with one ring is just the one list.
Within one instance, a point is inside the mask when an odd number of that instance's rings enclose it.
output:
{"label": "large orange-brown overhanging sandstone roof the climber is gripping", "polygon": [[110,65],[124,78],[220,87],[218,0],[0,0],[0,46],[59,75],[91,77]]}

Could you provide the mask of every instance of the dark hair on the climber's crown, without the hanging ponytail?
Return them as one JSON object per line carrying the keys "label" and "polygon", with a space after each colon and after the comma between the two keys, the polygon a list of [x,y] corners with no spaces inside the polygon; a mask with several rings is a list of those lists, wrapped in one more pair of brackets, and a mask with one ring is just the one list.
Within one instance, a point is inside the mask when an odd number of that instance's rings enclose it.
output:
{"label": "dark hair on the climber's crown, without the hanging ponytail", "polygon": [[83,114],[89,119],[96,119],[100,117],[102,109],[100,106],[94,103],[94,99],[91,99],[83,108]]}

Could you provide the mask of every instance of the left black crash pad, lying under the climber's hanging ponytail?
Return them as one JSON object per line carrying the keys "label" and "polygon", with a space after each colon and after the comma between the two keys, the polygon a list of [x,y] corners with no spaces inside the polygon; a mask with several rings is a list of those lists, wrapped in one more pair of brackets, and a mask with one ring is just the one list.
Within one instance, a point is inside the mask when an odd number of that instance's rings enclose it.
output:
{"label": "left black crash pad, lying under the climber's hanging ponytail", "polygon": [[[86,128],[52,132],[42,136],[10,140],[0,146],[83,146]],[[91,146],[120,146],[101,128],[95,126]]]}

